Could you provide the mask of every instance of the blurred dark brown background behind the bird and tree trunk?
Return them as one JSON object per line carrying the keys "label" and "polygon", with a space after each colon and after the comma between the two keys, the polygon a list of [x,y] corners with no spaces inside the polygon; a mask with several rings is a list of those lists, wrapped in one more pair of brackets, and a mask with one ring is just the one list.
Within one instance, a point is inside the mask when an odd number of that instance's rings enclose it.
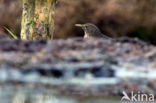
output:
{"label": "blurred dark brown background behind the bird and tree trunk", "polygon": [[[3,27],[20,34],[22,0],[0,0]],[[58,0],[55,38],[81,37],[76,23],[94,23],[111,37],[138,37],[156,44],[156,0]]]}

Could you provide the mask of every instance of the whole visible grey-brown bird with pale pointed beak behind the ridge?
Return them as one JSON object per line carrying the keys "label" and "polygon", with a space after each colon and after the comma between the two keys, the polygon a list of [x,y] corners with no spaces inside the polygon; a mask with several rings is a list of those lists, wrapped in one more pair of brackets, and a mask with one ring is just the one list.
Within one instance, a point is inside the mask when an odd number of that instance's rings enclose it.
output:
{"label": "whole visible grey-brown bird with pale pointed beak behind the ridge", "polygon": [[89,39],[90,37],[96,38],[104,38],[104,39],[112,39],[103,33],[101,33],[100,29],[92,24],[92,23],[85,23],[85,24],[75,24],[77,27],[81,27],[85,33],[84,39]]}

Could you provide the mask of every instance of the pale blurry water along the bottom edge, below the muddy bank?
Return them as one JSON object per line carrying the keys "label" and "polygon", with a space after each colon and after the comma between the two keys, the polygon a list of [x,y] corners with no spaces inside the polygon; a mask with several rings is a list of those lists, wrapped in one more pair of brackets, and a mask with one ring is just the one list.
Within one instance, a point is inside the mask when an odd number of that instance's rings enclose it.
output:
{"label": "pale blurry water along the bottom edge, below the muddy bank", "polygon": [[53,89],[0,86],[0,103],[120,103],[119,99],[65,96]]}

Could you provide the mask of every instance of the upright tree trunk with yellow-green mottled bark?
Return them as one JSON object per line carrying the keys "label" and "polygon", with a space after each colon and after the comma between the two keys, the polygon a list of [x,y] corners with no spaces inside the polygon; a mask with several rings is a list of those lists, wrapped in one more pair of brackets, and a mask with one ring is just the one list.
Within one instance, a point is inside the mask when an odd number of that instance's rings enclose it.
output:
{"label": "upright tree trunk with yellow-green mottled bark", "polygon": [[56,0],[23,0],[22,40],[53,38]]}

